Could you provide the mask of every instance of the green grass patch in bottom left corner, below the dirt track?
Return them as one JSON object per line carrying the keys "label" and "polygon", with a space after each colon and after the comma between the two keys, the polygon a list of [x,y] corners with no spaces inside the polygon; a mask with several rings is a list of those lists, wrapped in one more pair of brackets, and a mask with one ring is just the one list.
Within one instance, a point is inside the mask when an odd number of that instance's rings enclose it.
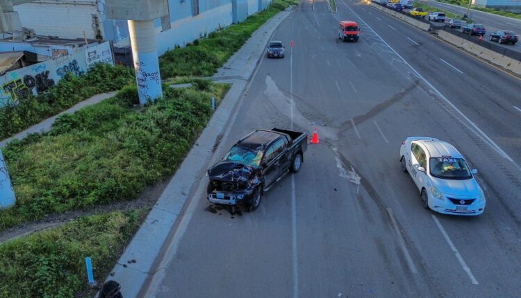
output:
{"label": "green grass patch in bottom left corner, below the dirt track", "polygon": [[78,218],[1,244],[0,297],[74,297],[87,288],[86,256],[102,283],[147,213]]}

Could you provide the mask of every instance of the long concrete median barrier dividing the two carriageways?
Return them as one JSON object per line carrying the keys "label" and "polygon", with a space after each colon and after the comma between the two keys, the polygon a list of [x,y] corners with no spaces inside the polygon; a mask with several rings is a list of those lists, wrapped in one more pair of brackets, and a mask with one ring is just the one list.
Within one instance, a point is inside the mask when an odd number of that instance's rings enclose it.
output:
{"label": "long concrete median barrier dividing the two carriageways", "polygon": [[[379,6],[377,4],[371,3],[371,6],[374,6],[374,8],[377,8],[383,12],[386,12],[388,15],[392,15],[393,17],[396,17],[397,19],[401,19],[402,21],[405,21],[406,23],[411,24],[412,26],[415,26],[416,28],[420,28],[422,30],[429,30],[429,28],[431,27],[429,24],[425,24],[421,21],[417,21],[417,20],[413,19],[412,17],[407,17],[406,15],[402,15],[401,13],[395,12],[388,8],[383,8],[382,6]],[[520,61],[515,60],[513,58],[509,58],[505,55],[502,55],[502,54],[492,51],[490,49],[486,49],[484,46],[480,46],[479,44],[474,44],[474,42],[465,40],[457,35],[447,32],[445,30],[436,30],[436,33],[438,34],[438,37],[441,40],[445,40],[445,42],[448,42],[449,44],[457,46],[458,48],[463,49],[463,50],[467,51],[468,53],[477,55],[479,58],[481,58],[483,60],[493,63],[508,71],[511,71],[512,73],[515,73],[518,76],[521,76],[521,62]]]}

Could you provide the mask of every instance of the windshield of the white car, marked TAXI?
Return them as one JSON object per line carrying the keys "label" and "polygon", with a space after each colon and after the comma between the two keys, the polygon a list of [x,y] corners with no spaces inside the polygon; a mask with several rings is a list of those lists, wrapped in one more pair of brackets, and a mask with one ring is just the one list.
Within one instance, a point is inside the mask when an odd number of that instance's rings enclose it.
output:
{"label": "windshield of the white car, marked TAXI", "polygon": [[465,160],[452,157],[431,157],[431,175],[442,179],[470,179],[472,174]]}

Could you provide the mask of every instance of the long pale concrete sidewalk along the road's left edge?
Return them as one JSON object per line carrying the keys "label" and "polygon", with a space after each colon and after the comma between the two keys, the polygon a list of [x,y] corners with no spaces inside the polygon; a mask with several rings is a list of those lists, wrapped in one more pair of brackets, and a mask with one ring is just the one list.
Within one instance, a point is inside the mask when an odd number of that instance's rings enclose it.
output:
{"label": "long pale concrete sidewalk along the road's left edge", "polygon": [[160,271],[158,263],[176,232],[177,223],[183,217],[183,207],[190,200],[201,177],[204,177],[213,150],[261,61],[267,42],[288,15],[290,9],[279,12],[258,28],[213,76],[213,80],[231,82],[233,85],[108,277],[107,280],[121,284],[123,297],[144,297],[141,291],[147,290],[149,281]]}

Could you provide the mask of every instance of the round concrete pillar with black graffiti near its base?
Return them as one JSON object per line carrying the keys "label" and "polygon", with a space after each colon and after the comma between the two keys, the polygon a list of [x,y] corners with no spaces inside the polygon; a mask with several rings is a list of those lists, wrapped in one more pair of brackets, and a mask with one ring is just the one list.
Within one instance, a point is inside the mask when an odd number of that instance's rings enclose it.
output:
{"label": "round concrete pillar with black graffiti near its base", "polygon": [[163,96],[159,73],[158,50],[154,21],[129,20],[129,33],[134,57],[135,80],[140,103]]}

